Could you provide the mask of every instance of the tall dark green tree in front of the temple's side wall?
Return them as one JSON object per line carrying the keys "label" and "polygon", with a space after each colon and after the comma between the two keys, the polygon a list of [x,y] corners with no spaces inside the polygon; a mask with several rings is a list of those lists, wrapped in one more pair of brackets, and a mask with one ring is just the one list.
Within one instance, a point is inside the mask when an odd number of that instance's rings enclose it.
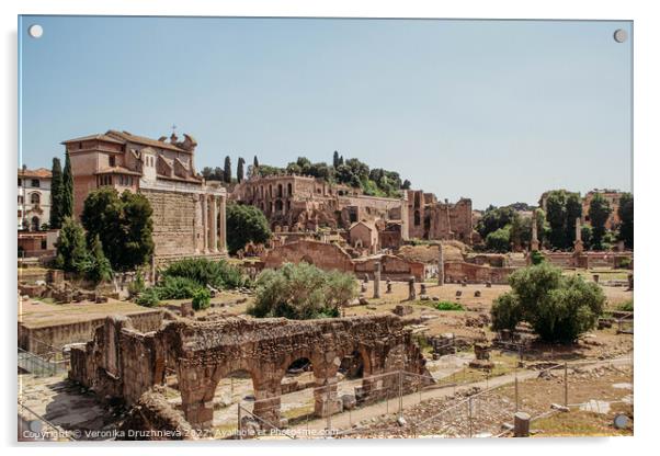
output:
{"label": "tall dark green tree in front of the temple's side wall", "polygon": [[151,205],[144,196],[103,187],[84,201],[80,219],[88,242],[99,236],[103,252],[115,271],[128,271],[148,262],[153,252]]}

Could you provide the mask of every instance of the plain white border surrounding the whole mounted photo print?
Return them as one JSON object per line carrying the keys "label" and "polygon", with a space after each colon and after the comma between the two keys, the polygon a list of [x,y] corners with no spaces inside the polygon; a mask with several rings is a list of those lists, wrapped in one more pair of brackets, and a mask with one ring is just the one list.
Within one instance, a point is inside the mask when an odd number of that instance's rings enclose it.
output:
{"label": "plain white border surrounding the whole mounted photo print", "polygon": [[[2,376],[2,421],[0,430],[4,431],[5,444],[12,445],[15,438],[15,364],[13,364],[15,344],[15,169],[16,164],[16,15],[22,14],[122,14],[122,15],[246,15],[246,16],[371,16],[371,18],[481,18],[481,19],[600,19],[600,20],[634,20],[635,21],[635,197],[637,202],[637,241],[636,250],[636,300],[638,319],[636,324],[636,381],[635,381],[635,434],[634,438],[557,438],[525,442],[479,441],[368,441],[368,442],[300,442],[282,445],[281,443],[257,444],[240,443],[239,445],[197,445],[183,449],[180,445],[140,445],[139,452],[158,452],[181,454],[185,452],[231,452],[231,454],[252,454],[268,452],[269,454],[332,454],[354,451],[360,453],[391,453],[403,452],[460,452],[511,454],[512,449],[535,454],[553,454],[557,452],[579,451],[581,453],[600,455],[646,453],[645,449],[658,446],[652,438],[658,434],[656,429],[660,403],[653,392],[658,383],[659,341],[655,338],[658,331],[660,299],[656,280],[658,264],[658,227],[659,192],[656,191],[658,180],[658,44],[660,44],[660,27],[658,14],[655,13],[652,1],[524,1],[524,0],[473,0],[442,3],[440,1],[348,1],[348,0],[260,0],[260,1],[195,1],[195,0],[114,0],[114,1],[71,1],[71,0],[23,0],[20,2],[2,2],[3,64],[0,71],[4,106],[2,116],[3,153],[7,157],[2,182],[2,210],[8,215],[2,225],[4,233],[2,261],[3,307],[5,310],[4,324],[5,346],[8,356],[4,365],[8,367]],[[590,170],[584,170],[590,172]],[[656,229],[653,229],[656,227]],[[639,317],[641,315],[642,318]],[[660,435],[659,435],[660,436]],[[14,444],[15,445],[15,444]],[[408,448],[413,445],[413,448]],[[116,455],[117,444],[110,446],[56,447],[42,448],[48,453],[88,454],[90,451],[101,454]],[[15,446],[10,451],[25,451],[26,446]],[[132,449],[132,452],[135,449]],[[264,453],[265,454],[265,453]]]}

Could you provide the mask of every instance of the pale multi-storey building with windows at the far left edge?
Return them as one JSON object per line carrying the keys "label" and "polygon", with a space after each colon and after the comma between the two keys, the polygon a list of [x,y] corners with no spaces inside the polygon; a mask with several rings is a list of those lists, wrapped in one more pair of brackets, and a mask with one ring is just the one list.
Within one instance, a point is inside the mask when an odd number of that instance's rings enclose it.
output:
{"label": "pale multi-storey building with windows at the far left edge", "polygon": [[18,229],[41,231],[50,219],[50,180],[45,168],[19,170]]}

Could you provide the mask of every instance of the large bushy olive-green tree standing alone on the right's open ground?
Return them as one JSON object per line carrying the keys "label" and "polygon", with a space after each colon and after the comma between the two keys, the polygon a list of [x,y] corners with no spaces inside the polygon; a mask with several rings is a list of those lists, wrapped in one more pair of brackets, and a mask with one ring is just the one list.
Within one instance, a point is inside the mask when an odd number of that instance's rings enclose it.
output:
{"label": "large bushy olive-green tree standing alone on the right's open ground", "polygon": [[605,295],[596,284],[564,276],[545,262],[515,271],[509,283],[512,290],[491,309],[496,330],[526,321],[544,341],[572,342],[592,329],[604,310]]}

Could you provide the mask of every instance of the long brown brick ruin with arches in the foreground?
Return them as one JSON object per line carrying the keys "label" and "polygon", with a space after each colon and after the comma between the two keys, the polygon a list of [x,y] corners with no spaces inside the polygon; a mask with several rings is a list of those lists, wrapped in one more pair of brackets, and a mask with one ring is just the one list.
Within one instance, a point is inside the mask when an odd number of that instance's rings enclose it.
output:
{"label": "long brown brick ruin with arches in the foreground", "polygon": [[[282,380],[293,362],[311,362],[316,386],[322,387],[314,391],[315,413],[322,417],[341,410],[338,369],[343,358],[356,355],[364,366],[363,402],[399,389],[399,376],[369,376],[400,371],[428,375],[410,329],[394,315],[301,321],[182,318],[163,321],[158,331],[148,333],[115,316],[105,319],[92,341],[71,350],[69,377],[100,397],[120,398],[130,406],[163,384],[166,373],[175,373],[185,420],[205,429],[213,423],[219,380],[244,371],[253,383],[253,414],[277,426]],[[402,388],[411,390],[419,381],[417,375],[405,376]]]}

